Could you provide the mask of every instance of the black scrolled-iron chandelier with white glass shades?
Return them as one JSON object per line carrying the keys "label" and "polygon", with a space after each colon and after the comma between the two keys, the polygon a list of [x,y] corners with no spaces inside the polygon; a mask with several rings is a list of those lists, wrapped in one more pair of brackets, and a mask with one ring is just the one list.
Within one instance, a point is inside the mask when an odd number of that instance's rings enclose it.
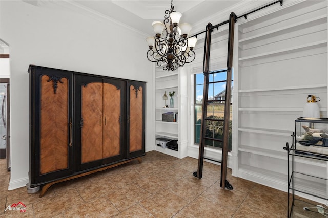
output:
{"label": "black scrolled-iron chandelier with white glass shades", "polygon": [[149,46],[148,60],[157,62],[157,66],[165,64],[163,69],[168,71],[192,62],[196,57],[193,49],[197,42],[196,37],[187,38],[191,30],[190,24],[178,25],[182,14],[174,11],[172,1],[171,9],[165,11],[163,23],[152,23],[155,36],[146,39]]}

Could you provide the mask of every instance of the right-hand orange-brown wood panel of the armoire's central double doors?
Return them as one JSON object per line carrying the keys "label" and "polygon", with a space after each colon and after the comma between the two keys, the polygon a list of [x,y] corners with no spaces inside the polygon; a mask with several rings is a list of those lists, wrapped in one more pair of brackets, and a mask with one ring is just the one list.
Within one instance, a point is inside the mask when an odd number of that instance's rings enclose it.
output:
{"label": "right-hand orange-brown wood panel of the armoire's central double doors", "polygon": [[103,158],[113,157],[120,154],[121,134],[121,90],[115,85],[104,83],[103,105]]}

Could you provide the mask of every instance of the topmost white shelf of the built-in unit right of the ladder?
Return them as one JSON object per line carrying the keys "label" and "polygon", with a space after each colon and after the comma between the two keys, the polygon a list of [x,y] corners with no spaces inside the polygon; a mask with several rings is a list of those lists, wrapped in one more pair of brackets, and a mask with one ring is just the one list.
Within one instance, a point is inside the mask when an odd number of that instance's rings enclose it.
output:
{"label": "topmost white shelf of the built-in unit right of the ladder", "polygon": [[247,37],[247,38],[240,39],[239,43],[244,44],[244,43],[247,43],[247,42],[253,42],[253,41],[259,40],[260,38],[271,37],[270,35],[272,35],[274,33],[277,33],[277,32],[282,32],[282,31],[288,32],[288,30],[290,28],[294,28],[294,27],[297,27],[297,26],[308,24],[308,23],[311,23],[311,22],[314,22],[314,21],[317,21],[317,20],[320,20],[320,19],[326,20],[326,17],[327,17],[326,15],[321,15],[321,16],[313,17],[313,18],[308,19],[308,20],[302,20],[298,23],[294,23],[294,24],[287,25],[287,26],[282,26],[282,27],[280,27],[278,29],[275,29],[275,30],[271,30],[271,31],[268,31],[268,32],[264,32],[264,33],[260,33],[260,34],[254,35],[254,36],[250,36],[250,37]]}

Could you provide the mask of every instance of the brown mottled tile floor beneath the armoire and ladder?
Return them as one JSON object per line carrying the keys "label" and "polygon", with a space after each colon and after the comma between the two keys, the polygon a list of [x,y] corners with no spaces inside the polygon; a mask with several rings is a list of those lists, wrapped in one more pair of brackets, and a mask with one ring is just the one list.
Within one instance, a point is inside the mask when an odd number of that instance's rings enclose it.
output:
{"label": "brown mottled tile floor beneath the armoire and ladder", "polygon": [[[227,179],[220,166],[204,162],[203,178],[192,173],[198,161],[151,151],[128,164],[55,184],[44,197],[26,188],[8,191],[10,173],[0,159],[0,217],[286,217],[286,193],[247,180]],[[5,209],[22,202],[26,212]]]}

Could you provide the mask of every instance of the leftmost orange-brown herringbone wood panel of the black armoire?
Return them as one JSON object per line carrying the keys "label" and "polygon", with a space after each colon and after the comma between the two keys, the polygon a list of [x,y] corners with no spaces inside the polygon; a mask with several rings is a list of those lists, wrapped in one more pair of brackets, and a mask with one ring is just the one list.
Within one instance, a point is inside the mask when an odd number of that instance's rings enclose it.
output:
{"label": "leftmost orange-brown herringbone wood panel of the black armoire", "polygon": [[[55,82],[55,83],[54,83]],[[40,174],[68,168],[69,82],[40,81]]]}

